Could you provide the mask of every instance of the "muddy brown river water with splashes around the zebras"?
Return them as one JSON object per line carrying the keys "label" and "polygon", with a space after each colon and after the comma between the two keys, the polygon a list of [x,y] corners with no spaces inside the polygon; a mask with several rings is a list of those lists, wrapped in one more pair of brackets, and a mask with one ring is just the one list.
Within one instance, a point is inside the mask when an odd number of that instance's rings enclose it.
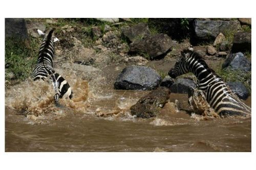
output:
{"label": "muddy brown river water with splashes around the zebras", "polygon": [[[6,90],[5,151],[251,152],[250,117],[206,120],[182,110],[187,94],[171,93],[157,117],[135,118],[129,108],[149,91],[113,90],[113,83],[98,89],[80,77],[75,71],[66,73],[76,97],[61,99],[62,108],[54,107],[47,81],[26,80]],[[251,98],[245,103],[251,106]]]}

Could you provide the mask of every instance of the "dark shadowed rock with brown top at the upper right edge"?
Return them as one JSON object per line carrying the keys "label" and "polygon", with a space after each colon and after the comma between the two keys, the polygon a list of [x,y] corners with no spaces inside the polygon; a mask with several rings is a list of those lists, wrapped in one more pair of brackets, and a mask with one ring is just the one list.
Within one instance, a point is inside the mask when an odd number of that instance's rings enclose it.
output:
{"label": "dark shadowed rock with brown top at the upper right edge", "polygon": [[234,34],[232,53],[251,51],[251,33],[238,32]]}

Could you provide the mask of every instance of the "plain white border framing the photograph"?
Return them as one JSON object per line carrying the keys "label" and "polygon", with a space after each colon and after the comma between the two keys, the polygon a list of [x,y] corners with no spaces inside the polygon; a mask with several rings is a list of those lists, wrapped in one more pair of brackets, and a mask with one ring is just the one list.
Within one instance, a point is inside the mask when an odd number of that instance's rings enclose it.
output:
{"label": "plain white border framing the photograph", "polygon": [[[252,169],[255,168],[255,116],[252,105],[252,153],[5,153],[5,17],[252,17],[253,1],[1,1],[1,169]],[[253,25],[254,26],[254,25]],[[252,63],[254,56],[252,27]],[[252,103],[254,99],[252,65]]]}

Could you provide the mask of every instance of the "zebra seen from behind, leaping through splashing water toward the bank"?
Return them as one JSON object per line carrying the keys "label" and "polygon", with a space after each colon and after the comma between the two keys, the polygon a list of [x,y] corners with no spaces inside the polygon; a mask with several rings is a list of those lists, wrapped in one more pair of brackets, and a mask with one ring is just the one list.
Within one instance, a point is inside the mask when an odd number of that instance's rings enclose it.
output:
{"label": "zebra seen from behind, leaping through splashing water toward the bank", "polygon": [[32,78],[34,81],[45,80],[49,76],[55,90],[55,105],[60,106],[58,100],[63,97],[72,99],[73,92],[69,83],[53,69],[54,43],[59,41],[58,38],[52,35],[53,31],[51,30],[48,34],[45,34],[41,30],[37,30],[38,34],[43,38],[39,48],[37,64],[32,72]]}

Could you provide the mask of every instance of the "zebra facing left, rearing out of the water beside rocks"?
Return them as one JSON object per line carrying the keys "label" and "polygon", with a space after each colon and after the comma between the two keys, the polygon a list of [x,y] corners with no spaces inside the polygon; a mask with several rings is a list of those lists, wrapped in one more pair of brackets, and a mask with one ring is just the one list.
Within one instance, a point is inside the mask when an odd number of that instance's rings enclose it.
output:
{"label": "zebra facing left, rearing out of the water beside rocks", "polygon": [[178,76],[193,72],[197,77],[197,87],[189,86],[189,95],[197,88],[201,90],[206,101],[221,117],[232,115],[250,116],[251,108],[245,105],[231,92],[225,82],[209,68],[199,53],[193,48],[181,51],[181,57],[174,67],[168,71],[168,75],[175,79]]}

